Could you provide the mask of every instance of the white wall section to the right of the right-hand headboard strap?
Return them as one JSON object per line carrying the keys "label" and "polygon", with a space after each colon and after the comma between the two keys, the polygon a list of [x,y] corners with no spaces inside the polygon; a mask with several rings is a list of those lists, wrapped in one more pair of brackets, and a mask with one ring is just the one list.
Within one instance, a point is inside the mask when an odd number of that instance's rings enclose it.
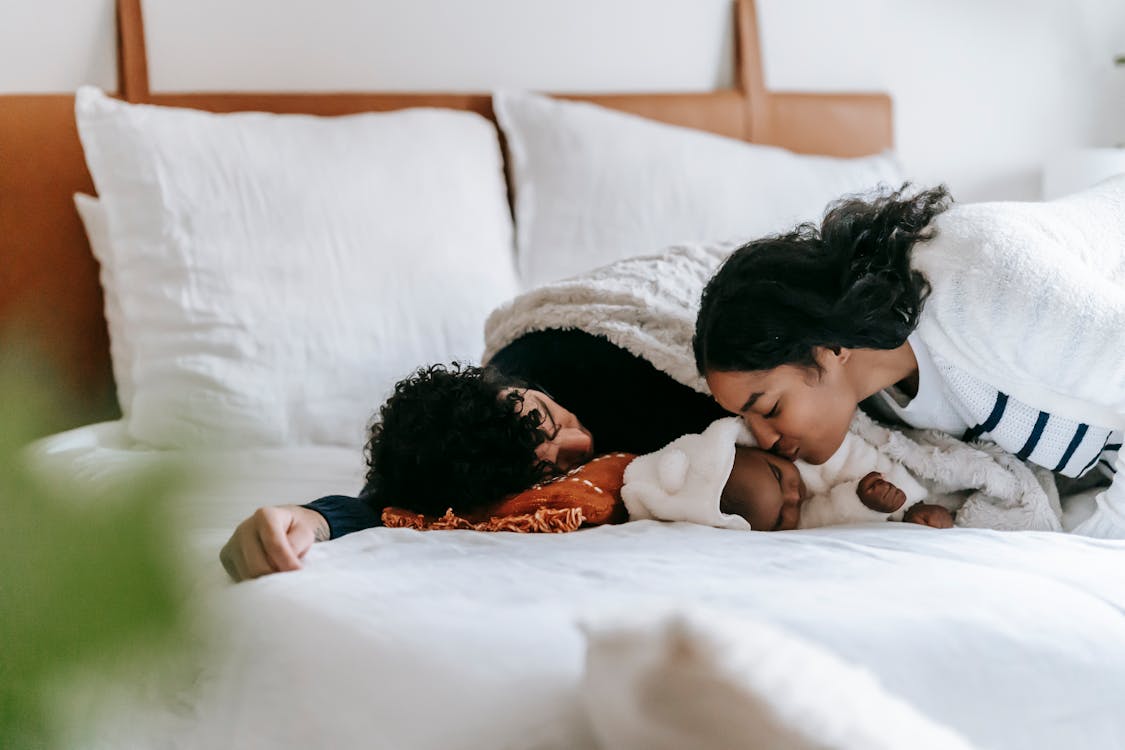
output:
{"label": "white wall section to the right of the right-hand headboard strap", "polygon": [[[812,8],[816,11],[812,12]],[[1123,0],[763,0],[766,78],[876,88],[909,174],[961,200],[1038,197],[1056,152],[1125,141]],[[816,24],[809,19],[816,18]]]}

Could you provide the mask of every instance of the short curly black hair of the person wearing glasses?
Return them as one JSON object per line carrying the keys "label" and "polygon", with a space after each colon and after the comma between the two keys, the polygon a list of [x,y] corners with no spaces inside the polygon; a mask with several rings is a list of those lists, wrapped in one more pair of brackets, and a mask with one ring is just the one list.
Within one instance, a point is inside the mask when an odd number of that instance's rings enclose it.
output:
{"label": "short curly black hair of the person wearing glasses", "polygon": [[370,427],[363,500],[377,510],[472,513],[552,473],[536,457],[543,415],[522,413],[526,387],[459,362],[399,380]]}

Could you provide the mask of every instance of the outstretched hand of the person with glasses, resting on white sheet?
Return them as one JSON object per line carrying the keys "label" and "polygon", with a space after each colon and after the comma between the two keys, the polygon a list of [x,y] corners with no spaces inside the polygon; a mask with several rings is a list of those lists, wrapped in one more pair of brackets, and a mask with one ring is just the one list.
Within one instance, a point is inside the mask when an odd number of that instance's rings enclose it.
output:
{"label": "outstretched hand of the person with glasses, resting on white sheet", "polygon": [[238,524],[218,559],[234,580],[297,570],[314,542],[328,539],[328,524],[299,505],[258,508]]}

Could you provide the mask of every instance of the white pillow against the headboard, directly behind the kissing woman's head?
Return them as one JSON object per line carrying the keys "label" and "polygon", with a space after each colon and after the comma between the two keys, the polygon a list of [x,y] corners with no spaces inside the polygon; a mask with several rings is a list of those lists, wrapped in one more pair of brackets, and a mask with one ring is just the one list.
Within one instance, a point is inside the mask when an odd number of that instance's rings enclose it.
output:
{"label": "white pillow against the headboard, directly behind the kissing woman's head", "polygon": [[493,105],[525,287],[674,243],[783,232],[845,193],[902,182],[890,154],[804,156],[531,93]]}

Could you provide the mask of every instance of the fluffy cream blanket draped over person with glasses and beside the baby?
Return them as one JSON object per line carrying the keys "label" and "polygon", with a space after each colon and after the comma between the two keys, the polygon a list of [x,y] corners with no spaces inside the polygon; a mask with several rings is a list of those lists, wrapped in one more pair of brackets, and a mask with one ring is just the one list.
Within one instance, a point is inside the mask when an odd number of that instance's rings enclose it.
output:
{"label": "fluffy cream blanket draped over person with glasses and beside the baby", "polygon": [[[678,382],[706,394],[692,335],[703,287],[730,243],[677,245],[533,289],[489,316],[485,361],[520,336],[548,328],[601,335]],[[852,431],[927,485],[963,526],[1061,530],[1050,472],[1033,472],[1005,451],[971,446],[932,431],[882,427],[857,413]]]}

